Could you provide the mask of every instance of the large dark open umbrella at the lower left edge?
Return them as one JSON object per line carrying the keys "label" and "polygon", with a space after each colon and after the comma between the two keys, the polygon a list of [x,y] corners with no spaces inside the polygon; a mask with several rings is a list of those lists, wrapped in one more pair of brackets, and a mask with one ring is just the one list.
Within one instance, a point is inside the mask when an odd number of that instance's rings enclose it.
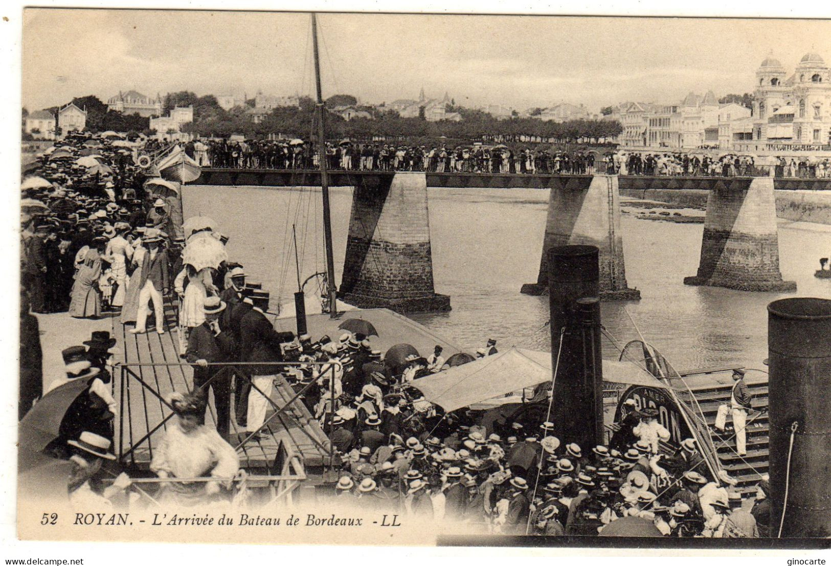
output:
{"label": "large dark open umbrella at the lower left edge", "polygon": [[61,421],[66,410],[86,390],[89,379],[79,377],[69,381],[35,403],[17,427],[17,442],[21,448],[40,452],[60,434]]}

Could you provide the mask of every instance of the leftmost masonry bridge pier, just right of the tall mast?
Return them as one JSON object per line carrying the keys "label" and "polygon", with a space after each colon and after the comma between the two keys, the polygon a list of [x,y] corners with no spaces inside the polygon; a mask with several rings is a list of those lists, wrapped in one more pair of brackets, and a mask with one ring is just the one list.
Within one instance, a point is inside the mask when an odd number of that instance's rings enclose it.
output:
{"label": "leftmost masonry bridge pier, just right of the tall mast", "polygon": [[356,184],[338,297],[359,308],[445,312],[435,293],[424,173],[399,172],[388,183]]}

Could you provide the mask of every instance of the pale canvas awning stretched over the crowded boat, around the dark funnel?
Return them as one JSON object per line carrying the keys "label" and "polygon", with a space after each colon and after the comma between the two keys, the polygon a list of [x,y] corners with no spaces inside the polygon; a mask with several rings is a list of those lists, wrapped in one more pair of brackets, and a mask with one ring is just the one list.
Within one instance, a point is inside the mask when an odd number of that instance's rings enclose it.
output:
{"label": "pale canvas awning stretched over the crowded boat, around the dark funnel", "polygon": [[[550,382],[551,354],[510,348],[462,366],[450,367],[411,382],[425,399],[455,411],[480,401],[504,396],[525,387]],[[660,381],[630,362],[603,360],[603,381],[663,387]]]}

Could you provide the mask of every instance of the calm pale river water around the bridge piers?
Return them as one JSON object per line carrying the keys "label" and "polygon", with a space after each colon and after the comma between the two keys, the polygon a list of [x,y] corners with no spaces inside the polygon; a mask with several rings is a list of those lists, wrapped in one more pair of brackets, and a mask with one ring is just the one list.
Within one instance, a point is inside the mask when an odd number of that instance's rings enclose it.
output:
{"label": "calm pale river water around the bridge piers", "polygon": [[[548,190],[429,189],[435,291],[450,295],[450,313],[411,317],[474,351],[489,337],[498,346],[550,349],[548,298],[519,293],[537,280]],[[297,290],[292,244],[296,225],[301,273],[322,271],[320,189],[188,186],[184,217],[204,214],[230,236],[229,255],[252,281],[281,303]],[[332,234],[338,282],[352,190],[332,189]],[[603,303],[602,322],[618,342],[643,337],[677,369],[740,364],[767,357],[766,306],[777,298],[831,298],[831,280],[814,278],[831,252],[831,226],[779,222],[779,262],[797,293],[742,293],[689,287],[701,250],[702,224],[672,224],[622,216],[629,287],[640,302]],[[282,289],[282,292],[281,292]],[[626,310],[624,310],[626,309]],[[627,315],[628,312],[628,315]],[[604,357],[613,357],[604,341]]]}

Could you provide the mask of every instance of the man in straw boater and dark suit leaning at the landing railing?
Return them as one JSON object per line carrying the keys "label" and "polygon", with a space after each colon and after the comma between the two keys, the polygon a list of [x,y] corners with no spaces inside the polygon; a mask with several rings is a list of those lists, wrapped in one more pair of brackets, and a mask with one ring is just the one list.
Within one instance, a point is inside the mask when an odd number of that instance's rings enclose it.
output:
{"label": "man in straw boater and dark suit leaning at the landing railing", "polygon": [[216,430],[219,436],[228,438],[231,418],[231,376],[229,368],[209,366],[209,363],[227,362],[232,344],[227,333],[219,328],[220,313],[226,305],[219,297],[207,297],[202,305],[205,320],[191,329],[185,359],[194,366],[194,391],[204,395],[208,401],[208,389],[214,390],[216,406]]}

